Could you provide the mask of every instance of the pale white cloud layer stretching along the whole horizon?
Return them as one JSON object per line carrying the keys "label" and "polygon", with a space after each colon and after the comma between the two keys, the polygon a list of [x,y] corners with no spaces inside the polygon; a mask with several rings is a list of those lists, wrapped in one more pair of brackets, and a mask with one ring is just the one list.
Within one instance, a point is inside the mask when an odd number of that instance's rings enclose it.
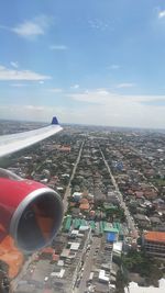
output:
{"label": "pale white cloud layer stretching along the whole horizon", "polygon": [[[48,93],[47,93],[48,98]],[[164,95],[124,95],[107,89],[86,90],[63,95],[64,105],[9,104],[0,106],[0,116],[48,121],[57,115],[63,123],[162,128],[165,125]],[[69,100],[70,105],[65,101]],[[158,101],[158,103],[157,103]],[[156,114],[158,113],[158,115]]]}

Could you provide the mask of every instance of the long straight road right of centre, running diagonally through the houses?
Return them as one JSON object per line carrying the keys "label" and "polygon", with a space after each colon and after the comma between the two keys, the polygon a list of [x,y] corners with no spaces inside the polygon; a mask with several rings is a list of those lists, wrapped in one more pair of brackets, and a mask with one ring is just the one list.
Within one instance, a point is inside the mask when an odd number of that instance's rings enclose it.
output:
{"label": "long straight road right of centre, running diagonally through the houses", "polygon": [[125,203],[124,203],[122,193],[121,193],[120,190],[119,190],[118,183],[117,183],[117,181],[116,181],[116,179],[114,179],[114,177],[113,177],[113,174],[112,174],[112,171],[111,171],[111,169],[110,169],[110,167],[109,167],[109,165],[108,165],[108,162],[107,162],[107,160],[106,160],[106,158],[105,158],[105,155],[103,155],[103,153],[102,153],[101,149],[100,149],[100,153],[101,153],[102,159],[103,159],[103,161],[105,161],[105,165],[106,165],[106,167],[107,167],[107,169],[108,169],[108,171],[109,171],[109,174],[110,174],[112,184],[113,184],[116,191],[118,192],[118,198],[119,198],[121,207],[124,210],[124,213],[125,213],[125,216],[127,216],[127,221],[128,221],[128,227],[129,227],[129,229],[132,232],[132,236],[133,236],[134,238],[136,238],[136,237],[138,237],[138,230],[136,230],[136,228],[135,228],[134,221],[133,221],[132,216],[130,215],[129,209],[128,209],[128,206],[127,206]]}

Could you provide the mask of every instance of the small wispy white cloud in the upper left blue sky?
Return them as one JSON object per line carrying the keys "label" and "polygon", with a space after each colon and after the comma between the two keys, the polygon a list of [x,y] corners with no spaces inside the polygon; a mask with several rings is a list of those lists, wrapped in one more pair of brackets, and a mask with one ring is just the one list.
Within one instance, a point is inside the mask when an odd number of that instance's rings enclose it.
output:
{"label": "small wispy white cloud in the upper left blue sky", "polygon": [[33,20],[24,21],[10,30],[21,37],[34,40],[38,35],[44,35],[51,24],[52,18],[40,15]]}

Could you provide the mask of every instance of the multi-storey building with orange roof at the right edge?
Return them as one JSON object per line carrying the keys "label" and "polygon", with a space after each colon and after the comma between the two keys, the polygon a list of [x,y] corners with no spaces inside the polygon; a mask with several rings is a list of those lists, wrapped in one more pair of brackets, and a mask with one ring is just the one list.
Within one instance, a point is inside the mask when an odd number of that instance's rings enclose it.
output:
{"label": "multi-storey building with orange roof at the right edge", "polygon": [[145,251],[154,257],[165,257],[165,233],[146,232],[143,235]]}

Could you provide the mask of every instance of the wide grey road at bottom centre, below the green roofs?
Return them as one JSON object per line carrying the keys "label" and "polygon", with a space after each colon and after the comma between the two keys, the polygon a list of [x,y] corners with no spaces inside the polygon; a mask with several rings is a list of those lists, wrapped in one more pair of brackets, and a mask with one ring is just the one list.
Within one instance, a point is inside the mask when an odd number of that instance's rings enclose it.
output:
{"label": "wide grey road at bottom centre, below the green roofs", "polygon": [[[87,290],[87,281],[89,280],[90,272],[92,271],[92,263],[96,253],[96,248],[100,247],[101,238],[95,237],[92,238],[92,244],[87,253],[85,263],[84,263],[84,271],[81,272],[82,277],[78,288],[75,288],[74,293],[84,293]],[[98,253],[98,252],[97,252]]]}

